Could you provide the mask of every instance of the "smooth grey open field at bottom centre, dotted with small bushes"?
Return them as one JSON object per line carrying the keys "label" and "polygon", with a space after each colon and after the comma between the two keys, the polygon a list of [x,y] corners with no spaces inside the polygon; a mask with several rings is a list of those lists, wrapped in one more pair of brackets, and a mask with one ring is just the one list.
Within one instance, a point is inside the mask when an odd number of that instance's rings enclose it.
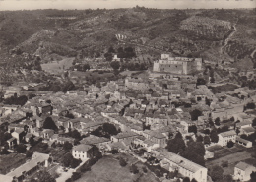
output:
{"label": "smooth grey open field at bottom centre, dotted with small bushes", "polygon": [[[144,173],[141,169],[144,166],[143,163],[138,162],[138,160],[130,155],[122,155],[123,158],[128,159],[127,165],[121,167],[119,160],[116,156],[104,156],[95,165],[92,166],[91,171],[88,171],[82,175],[82,177],[77,180],[77,182],[132,182],[132,181],[147,181],[147,182],[156,182],[155,176],[148,170],[147,173]],[[137,163],[138,162],[138,163]],[[136,166],[139,168],[139,173],[132,174],[129,170],[129,167],[132,163],[136,163]]]}

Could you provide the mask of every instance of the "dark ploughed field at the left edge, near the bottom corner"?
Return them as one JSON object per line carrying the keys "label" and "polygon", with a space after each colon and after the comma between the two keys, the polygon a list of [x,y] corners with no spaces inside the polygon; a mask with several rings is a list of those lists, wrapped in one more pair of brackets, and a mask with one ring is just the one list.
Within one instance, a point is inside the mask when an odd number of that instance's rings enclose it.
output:
{"label": "dark ploughed field at the left edge, near the bottom corner", "polygon": [[11,169],[17,168],[26,162],[25,154],[10,153],[7,155],[0,155],[0,173],[6,174]]}

